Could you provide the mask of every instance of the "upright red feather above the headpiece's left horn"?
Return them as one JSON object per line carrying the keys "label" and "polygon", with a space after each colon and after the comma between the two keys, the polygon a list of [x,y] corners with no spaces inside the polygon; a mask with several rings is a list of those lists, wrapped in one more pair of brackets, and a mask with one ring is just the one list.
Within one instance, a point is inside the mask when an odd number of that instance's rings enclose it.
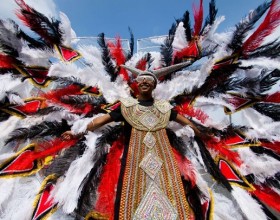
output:
{"label": "upright red feather above the headpiece's left horn", "polygon": [[[116,44],[108,41],[108,47],[110,49],[112,57],[115,59],[118,66],[125,63],[125,55],[121,44],[120,37],[116,37]],[[123,77],[125,81],[129,80],[127,70],[120,68],[119,74]]]}

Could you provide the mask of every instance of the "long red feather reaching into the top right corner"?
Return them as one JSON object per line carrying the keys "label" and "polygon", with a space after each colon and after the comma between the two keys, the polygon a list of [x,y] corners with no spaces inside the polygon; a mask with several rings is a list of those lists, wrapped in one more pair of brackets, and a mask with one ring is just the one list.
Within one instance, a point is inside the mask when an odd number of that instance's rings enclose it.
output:
{"label": "long red feather reaching into the top right corner", "polygon": [[254,51],[258,48],[264,38],[270,35],[275,28],[277,28],[280,24],[280,7],[279,0],[272,0],[272,4],[270,9],[264,19],[264,21],[260,24],[258,29],[245,41],[242,46],[242,51],[244,54]]}

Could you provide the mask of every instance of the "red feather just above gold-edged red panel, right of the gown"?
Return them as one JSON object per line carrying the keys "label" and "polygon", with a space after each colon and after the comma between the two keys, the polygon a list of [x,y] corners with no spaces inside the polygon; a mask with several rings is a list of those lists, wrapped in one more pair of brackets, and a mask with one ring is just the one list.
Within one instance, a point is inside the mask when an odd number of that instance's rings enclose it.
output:
{"label": "red feather just above gold-edged red panel, right of the gown", "polygon": [[237,166],[240,166],[242,164],[239,154],[227,149],[224,142],[217,141],[214,138],[210,137],[208,137],[207,140],[204,140],[204,142],[206,142],[205,144],[207,148],[215,150],[221,157],[230,159],[230,161],[234,162]]}

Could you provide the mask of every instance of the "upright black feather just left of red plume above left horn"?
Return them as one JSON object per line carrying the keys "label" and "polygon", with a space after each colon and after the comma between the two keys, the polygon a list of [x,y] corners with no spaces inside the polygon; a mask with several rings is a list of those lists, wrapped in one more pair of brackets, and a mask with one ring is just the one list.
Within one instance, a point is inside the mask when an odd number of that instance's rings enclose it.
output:
{"label": "upright black feather just left of red plume above left horn", "polygon": [[98,35],[98,40],[97,40],[99,46],[101,47],[102,50],[102,63],[105,66],[106,72],[109,74],[111,77],[111,81],[114,82],[117,78],[117,71],[116,68],[112,62],[112,57],[110,50],[108,48],[107,43],[105,42],[105,35],[104,33],[101,33]]}

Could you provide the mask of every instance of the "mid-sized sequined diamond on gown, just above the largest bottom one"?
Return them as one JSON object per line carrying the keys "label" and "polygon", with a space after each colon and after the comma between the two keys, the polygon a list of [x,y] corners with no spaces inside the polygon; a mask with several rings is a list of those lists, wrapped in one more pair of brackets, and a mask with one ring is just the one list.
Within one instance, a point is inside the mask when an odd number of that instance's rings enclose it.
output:
{"label": "mid-sized sequined diamond on gown, just above the largest bottom one", "polygon": [[162,160],[154,153],[149,152],[139,165],[145,173],[154,179],[162,166]]}

